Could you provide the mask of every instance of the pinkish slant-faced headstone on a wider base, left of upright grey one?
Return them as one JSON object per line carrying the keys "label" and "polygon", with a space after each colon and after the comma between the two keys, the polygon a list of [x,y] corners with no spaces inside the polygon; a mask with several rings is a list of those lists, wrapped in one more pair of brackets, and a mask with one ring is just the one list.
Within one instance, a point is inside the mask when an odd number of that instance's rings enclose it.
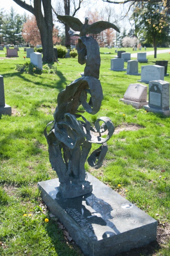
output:
{"label": "pinkish slant-faced headstone on a wider base, left of upright grey one", "polygon": [[143,84],[130,84],[120,101],[134,106],[136,109],[142,108],[148,104],[147,101],[148,86]]}

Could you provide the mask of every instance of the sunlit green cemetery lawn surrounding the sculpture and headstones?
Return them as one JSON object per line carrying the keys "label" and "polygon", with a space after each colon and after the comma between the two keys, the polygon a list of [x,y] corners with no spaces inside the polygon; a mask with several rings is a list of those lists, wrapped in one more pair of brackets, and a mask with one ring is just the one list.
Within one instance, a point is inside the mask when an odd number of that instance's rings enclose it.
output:
{"label": "sunlit green cemetery lawn surrounding the sculpture and headstones", "polygon": [[[6,104],[12,107],[12,116],[0,117],[0,255],[83,255],[74,241],[69,241],[59,220],[46,209],[37,182],[57,177],[50,166],[43,131],[53,120],[58,93],[81,77],[84,66],[79,66],[77,58],[68,58],[55,63],[57,75],[19,73],[16,64],[24,63],[23,48],[19,58],[6,58],[3,52],[6,50],[0,51],[0,75],[4,77]],[[115,48],[100,48],[100,52],[102,106],[96,115],[84,116],[92,124],[97,117],[109,117],[115,133],[108,141],[103,166],[95,170],[86,163],[86,170],[158,220],[157,242],[119,256],[168,256],[170,117],[120,102],[129,84],[136,83],[139,77],[109,70]],[[141,65],[155,64],[153,56],[147,58],[148,63],[139,63],[139,72]],[[168,60],[170,73],[169,53],[157,55],[156,60]],[[170,77],[164,80],[170,82]],[[92,145],[92,150],[97,147]],[[46,218],[49,222],[45,222]]]}

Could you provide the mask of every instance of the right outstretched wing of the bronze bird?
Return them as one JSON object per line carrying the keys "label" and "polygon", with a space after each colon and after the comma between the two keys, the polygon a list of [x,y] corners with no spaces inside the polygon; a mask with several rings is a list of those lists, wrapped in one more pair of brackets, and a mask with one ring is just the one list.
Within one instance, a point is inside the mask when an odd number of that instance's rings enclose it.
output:
{"label": "right outstretched wing of the bronze bird", "polygon": [[99,34],[103,30],[107,28],[114,28],[116,31],[120,33],[119,28],[114,25],[113,23],[110,23],[108,21],[97,21],[94,22],[93,24],[89,25],[88,33],[89,34]]}

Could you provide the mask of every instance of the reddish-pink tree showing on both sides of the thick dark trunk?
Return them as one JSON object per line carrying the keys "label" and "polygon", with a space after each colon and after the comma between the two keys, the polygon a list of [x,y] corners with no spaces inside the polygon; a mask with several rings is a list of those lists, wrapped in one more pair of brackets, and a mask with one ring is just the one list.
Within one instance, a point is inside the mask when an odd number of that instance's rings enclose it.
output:
{"label": "reddish-pink tree showing on both sides of the thick dark trunk", "polygon": [[[53,27],[52,39],[53,44],[60,43],[60,37],[58,36],[58,29]],[[41,44],[41,36],[36,24],[35,16],[29,16],[27,21],[23,24],[22,37],[27,43]]]}

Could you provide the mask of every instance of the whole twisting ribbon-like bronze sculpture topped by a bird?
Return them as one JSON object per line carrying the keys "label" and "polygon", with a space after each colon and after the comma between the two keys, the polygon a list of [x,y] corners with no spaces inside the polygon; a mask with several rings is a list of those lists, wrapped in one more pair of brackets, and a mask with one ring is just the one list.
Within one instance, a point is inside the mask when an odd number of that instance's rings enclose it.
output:
{"label": "whole twisting ribbon-like bronze sculpture topped by a bird", "polygon": [[[94,150],[87,159],[90,166],[98,169],[102,166],[107,152],[106,142],[114,132],[114,126],[107,117],[98,118],[91,126],[90,122],[81,114],[87,111],[94,115],[100,110],[103,99],[102,86],[99,78],[100,52],[99,46],[92,36],[87,33],[100,33],[106,28],[119,29],[104,21],[95,22],[88,25],[88,18],[83,25],[77,18],[72,16],[57,16],[58,19],[67,23],[72,29],[80,31],[78,39],[78,63],[86,63],[82,77],[66,86],[57,97],[57,107],[54,113],[54,121],[49,134],[47,127],[44,134],[49,145],[49,157],[52,168],[56,171],[60,190],[63,197],[76,197],[92,192],[92,184],[87,181],[85,162],[91,150],[92,143],[102,144]],[[76,32],[70,31],[72,35]],[[87,94],[90,94],[90,101],[87,102]],[[82,105],[84,111],[78,110]],[[103,121],[101,127],[99,122]],[[106,138],[101,137],[101,133],[108,130]],[[95,136],[95,133],[99,133]],[[96,160],[97,163],[96,163]]]}

